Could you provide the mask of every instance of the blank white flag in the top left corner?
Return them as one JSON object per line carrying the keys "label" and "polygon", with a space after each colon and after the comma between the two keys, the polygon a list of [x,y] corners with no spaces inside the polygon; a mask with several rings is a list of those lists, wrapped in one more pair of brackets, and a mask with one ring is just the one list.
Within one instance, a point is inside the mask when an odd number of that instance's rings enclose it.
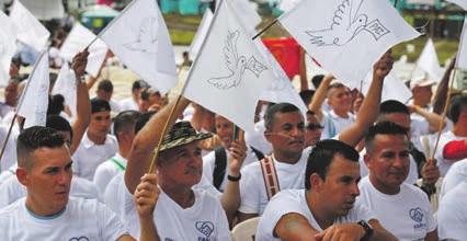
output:
{"label": "blank white flag in the top left corner", "polygon": [[19,0],[15,0],[10,12],[10,19],[16,25],[18,39],[42,51],[47,44],[50,33]]}

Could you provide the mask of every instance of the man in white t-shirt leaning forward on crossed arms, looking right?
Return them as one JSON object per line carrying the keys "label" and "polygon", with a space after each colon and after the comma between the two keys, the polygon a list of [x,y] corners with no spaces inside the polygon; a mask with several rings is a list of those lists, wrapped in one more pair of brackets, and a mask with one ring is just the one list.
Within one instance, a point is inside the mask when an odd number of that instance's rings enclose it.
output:
{"label": "man in white t-shirt leaning forward on crossed arms, looking right", "polygon": [[358,157],[341,141],[318,142],[308,158],[305,190],[282,191],[272,198],[255,240],[396,240],[355,202]]}

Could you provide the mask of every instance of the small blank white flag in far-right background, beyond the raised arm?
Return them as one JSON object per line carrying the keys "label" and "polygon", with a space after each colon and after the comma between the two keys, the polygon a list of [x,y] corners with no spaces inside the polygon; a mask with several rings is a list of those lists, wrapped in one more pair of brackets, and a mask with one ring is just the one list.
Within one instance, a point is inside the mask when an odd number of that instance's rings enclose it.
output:
{"label": "small blank white flag in far-right background, beyond the raised arm", "polygon": [[431,38],[428,39],[425,47],[417,61],[417,67],[425,71],[430,76],[430,79],[436,82],[440,82],[443,78],[443,69],[437,60],[436,49],[434,48],[434,44]]}

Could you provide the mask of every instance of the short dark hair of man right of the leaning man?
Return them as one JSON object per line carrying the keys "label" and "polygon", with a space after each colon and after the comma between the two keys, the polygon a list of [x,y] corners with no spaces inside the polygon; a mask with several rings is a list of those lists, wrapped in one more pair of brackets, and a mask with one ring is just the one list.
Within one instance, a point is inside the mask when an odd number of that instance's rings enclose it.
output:
{"label": "short dark hair of man right of the leaning man", "polygon": [[402,135],[408,136],[409,130],[402,126],[397,125],[392,122],[378,122],[372,127],[365,136],[365,148],[366,152],[372,153],[375,149],[375,137],[376,135]]}

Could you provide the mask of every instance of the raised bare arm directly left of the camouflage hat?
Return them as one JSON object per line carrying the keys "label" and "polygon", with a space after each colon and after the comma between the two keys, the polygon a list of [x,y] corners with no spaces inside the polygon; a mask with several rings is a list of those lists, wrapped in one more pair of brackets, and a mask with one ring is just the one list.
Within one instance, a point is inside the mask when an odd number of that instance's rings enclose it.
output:
{"label": "raised bare arm directly left of the camouflage hat", "polygon": [[[172,127],[176,117],[189,104],[189,100],[181,97],[175,112],[169,120],[168,128]],[[153,150],[161,139],[160,135],[174,105],[175,101],[172,101],[161,108],[136,135],[128,154],[128,163],[125,171],[125,185],[130,193],[135,192],[140,177],[148,171]]]}

